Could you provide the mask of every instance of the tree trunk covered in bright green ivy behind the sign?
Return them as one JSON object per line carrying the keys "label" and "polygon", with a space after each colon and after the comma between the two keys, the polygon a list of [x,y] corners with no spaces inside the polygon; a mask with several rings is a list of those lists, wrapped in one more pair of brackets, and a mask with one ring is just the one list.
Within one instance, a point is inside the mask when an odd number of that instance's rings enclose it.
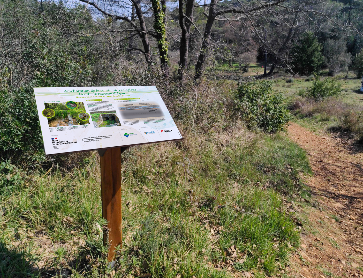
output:
{"label": "tree trunk covered in bright green ivy behind the sign", "polygon": [[156,42],[160,55],[160,67],[164,71],[164,76],[169,76],[168,42],[166,40],[166,0],[151,0],[154,12],[154,30],[156,32]]}

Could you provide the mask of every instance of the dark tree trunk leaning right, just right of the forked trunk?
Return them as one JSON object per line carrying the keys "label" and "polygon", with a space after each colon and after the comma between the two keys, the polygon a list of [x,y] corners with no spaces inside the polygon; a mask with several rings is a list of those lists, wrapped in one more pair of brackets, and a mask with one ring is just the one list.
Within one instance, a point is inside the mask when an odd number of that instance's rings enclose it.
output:
{"label": "dark tree trunk leaning right, just right of the forked trunk", "polygon": [[211,0],[211,4],[209,5],[208,19],[207,19],[207,23],[205,24],[205,31],[203,34],[202,46],[200,48],[200,53],[199,53],[197,64],[195,65],[194,82],[196,82],[201,77],[204,62],[205,62],[205,59],[207,58],[209,42],[211,41],[212,26],[213,26],[214,19],[216,17],[215,7],[216,7],[217,2],[218,2],[218,0]]}

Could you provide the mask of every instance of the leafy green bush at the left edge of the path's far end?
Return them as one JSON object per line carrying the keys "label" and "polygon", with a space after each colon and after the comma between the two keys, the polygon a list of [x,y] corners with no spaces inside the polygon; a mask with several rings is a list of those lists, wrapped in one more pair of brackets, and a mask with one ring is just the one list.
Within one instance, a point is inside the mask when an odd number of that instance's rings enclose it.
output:
{"label": "leafy green bush at the left edge of the path's far end", "polygon": [[271,81],[240,83],[236,102],[241,118],[250,129],[265,132],[284,130],[290,115],[281,93],[274,93]]}

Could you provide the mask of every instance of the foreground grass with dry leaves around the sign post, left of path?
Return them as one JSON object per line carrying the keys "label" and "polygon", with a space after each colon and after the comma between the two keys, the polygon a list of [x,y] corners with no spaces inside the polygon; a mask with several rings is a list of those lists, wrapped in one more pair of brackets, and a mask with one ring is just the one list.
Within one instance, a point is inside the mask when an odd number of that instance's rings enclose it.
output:
{"label": "foreground grass with dry leaves around the sign post, left of path", "polygon": [[[299,244],[281,194],[301,194],[299,173],[310,169],[303,150],[283,134],[189,133],[183,142],[132,147],[122,161],[124,248],[114,277],[222,278],[236,261],[263,277],[278,273],[289,245]],[[54,166],[10,189],[2,181],[0,271],[107,273],[95,152],[70,171]]]}

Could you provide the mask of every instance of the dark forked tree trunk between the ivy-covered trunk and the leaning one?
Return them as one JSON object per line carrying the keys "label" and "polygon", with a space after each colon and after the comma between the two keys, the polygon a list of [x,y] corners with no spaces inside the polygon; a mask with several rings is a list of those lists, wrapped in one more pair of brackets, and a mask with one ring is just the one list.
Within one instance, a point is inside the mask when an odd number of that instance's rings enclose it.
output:
{"label": "dark forked tree trunk between the ivy-covered trunk and the leaning one", "polygon": [[[181,38],[180,38],[180,60],[179,60],[179,82],[184,84],[185,82],[185,68],[188,62],[188,51],[189,51],[189,38],[190,38],[190,28],[192,23],[194,10],[194,0],[187,0],[185,7],[185,16],[183,11],[183,0],[179,0],[179,25],[181,28]],[[189,20],[190,19],[190,20]]]}

